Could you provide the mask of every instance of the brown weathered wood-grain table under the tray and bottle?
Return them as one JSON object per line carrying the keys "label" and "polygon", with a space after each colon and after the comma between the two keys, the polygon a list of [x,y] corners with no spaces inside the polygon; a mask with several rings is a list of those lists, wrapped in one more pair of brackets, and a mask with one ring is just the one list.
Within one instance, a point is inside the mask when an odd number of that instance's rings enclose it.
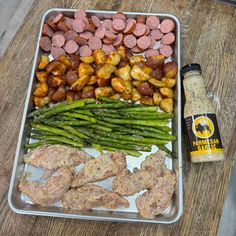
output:
{"label": "brown weathered wood-grain table under the tray and bottle", "polygon": [[[194,165],[184,155],[185,212],[177,224],[90,222],[23,216],[10,210],[7,192],[39,24],[46,9],[52,7],[168,12],[179,17],[182,64],[202,65],[207,90],[217,110],[227,159]],[[235,22],[236,9],[213,0],[35,1],[0,60],[0,235],[215,235],[236,145]]]}

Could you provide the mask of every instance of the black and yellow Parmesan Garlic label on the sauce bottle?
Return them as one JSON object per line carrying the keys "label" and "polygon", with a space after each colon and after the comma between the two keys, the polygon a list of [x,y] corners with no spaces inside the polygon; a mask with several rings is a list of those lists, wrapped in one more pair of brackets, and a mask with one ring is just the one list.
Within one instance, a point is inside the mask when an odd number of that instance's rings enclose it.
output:
{"label": "black and yellow Parmesan Garlic label on the sauce bottle", "polygon": [[215,114],[193,115],[185,119],[190,143],[190,154],[223,153]]}

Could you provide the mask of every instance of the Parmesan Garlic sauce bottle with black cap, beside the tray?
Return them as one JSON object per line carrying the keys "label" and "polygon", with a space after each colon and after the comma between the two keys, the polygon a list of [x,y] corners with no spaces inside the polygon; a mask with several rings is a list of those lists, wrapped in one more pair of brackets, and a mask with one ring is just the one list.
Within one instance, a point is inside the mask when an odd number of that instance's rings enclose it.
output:
{"label": "Parmesan Garlic sauce bottle with black cap, beside the tray", "polygon": [[216,114],[206,89],[199,64],[182,68],[186,103],[184,119],[187,127],[192,162],[224,160],[224,150]]}

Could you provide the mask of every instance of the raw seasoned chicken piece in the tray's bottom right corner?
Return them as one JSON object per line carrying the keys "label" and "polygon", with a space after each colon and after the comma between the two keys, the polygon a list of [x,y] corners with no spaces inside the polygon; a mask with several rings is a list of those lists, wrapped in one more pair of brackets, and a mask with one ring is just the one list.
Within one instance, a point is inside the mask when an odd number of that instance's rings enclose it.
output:
{"label": "raw seasoned chicken piece in the tray's bottom right corner", "polygon": [[153,188],[136,199],[136,206],[140,215],[146,218],[154,218],[161,214],[171,203],[175,184],[175,174],[165,170]]}

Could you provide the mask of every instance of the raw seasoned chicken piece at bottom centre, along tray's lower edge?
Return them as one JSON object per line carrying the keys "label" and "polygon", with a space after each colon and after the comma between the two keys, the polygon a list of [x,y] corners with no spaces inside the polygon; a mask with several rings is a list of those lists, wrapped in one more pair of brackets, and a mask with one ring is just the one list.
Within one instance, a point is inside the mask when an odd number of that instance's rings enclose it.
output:
{"label": "raw seasoned chicken piece at bottom centre, along tray's lower edge", "polygon": [[70,189],[62,201],[63,207],[88,210],[94,207],[129,207],[129,202],[118,194],[94,184]]}

